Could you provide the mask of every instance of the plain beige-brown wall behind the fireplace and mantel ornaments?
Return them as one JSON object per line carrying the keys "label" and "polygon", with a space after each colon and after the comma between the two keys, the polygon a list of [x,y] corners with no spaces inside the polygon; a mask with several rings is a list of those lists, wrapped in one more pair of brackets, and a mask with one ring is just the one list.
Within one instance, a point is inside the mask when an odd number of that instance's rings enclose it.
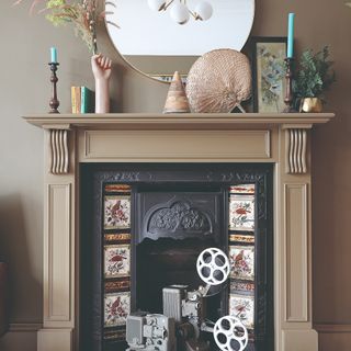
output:
{"label": "plain beige-brown wall behind the fireplace and mantel ornaments", "polygon": [[[47,111],[48,48],[58,48],[60,111],[69,111],[69,87],[92,87],[89,53],[70,27],[55,29],[29,16],[25,7],[0,2],[0,257],[10,264],[11,330],[1,350],[34,350],[42,320],[43,133],[20,116]],[[343,1],[257,1],[254,35],[285,34],[286,13],[296,12],[297,46],[331,45],[338,82],[328,95],[335,122],[314,132],[314,320],[326,324],[320,350],[351,349],[351,9]],[[102,29],[101,49],[114,63],[114,112],[159,112],[167,86],[131,70]],[[332,328],[330,325],[335,325]],[[335,332],[329,332],[332,329]],[[339,331],[344,331],[339,335]],[[18,338],[21,335],[23,339]]]}

